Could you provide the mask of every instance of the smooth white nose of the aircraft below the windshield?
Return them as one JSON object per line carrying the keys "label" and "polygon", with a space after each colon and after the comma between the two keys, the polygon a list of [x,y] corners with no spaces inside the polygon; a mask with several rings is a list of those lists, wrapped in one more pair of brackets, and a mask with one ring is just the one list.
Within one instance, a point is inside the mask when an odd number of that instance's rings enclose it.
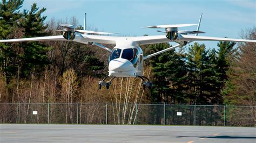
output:
{"label": "smooth white nose of the aircraft below the windshield", "polygon": [[109,63],[109,71],[129,71],[131,68],[132,63],[126,59],[114,59]]}

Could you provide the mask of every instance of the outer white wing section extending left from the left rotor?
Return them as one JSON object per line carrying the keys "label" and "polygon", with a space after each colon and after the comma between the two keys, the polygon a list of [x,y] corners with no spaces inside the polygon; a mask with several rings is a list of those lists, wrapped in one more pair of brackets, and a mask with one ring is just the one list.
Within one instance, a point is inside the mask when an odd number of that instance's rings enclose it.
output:
{"label": "outer white wing section extending left from the left rotor", "polygon": [[35,38],[19,38],[19,39],[7,39],[0,40],[0,42],[25,42],[25,41],[65,41],[62,35],[35,37]]}

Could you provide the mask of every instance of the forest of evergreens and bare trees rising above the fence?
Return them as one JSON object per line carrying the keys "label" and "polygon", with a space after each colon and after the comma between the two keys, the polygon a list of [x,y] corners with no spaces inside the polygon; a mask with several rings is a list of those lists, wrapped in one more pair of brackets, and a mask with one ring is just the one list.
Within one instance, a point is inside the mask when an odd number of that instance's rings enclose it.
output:
{"label": "forest of evergreens and bare trees rising above the fence", "polygon": [[[60,35],[59,24],[79,25],[75,16],[46,21],[45,8],[34,3],[21,11],[22,4],[0,3],[0,39]],[[240,37],[256,39],[256,27],[241,30]],[[170,46],[141,47],[149,55]],[[0,103],[109,103],[117,111],[142,103],[255,106],[255,43],[219,41],[217,46],[194,42],[145,60],[152,89],[143,90],[139,78],[120,77],[99,90],[109,52],[73,41],[0,43]]]}

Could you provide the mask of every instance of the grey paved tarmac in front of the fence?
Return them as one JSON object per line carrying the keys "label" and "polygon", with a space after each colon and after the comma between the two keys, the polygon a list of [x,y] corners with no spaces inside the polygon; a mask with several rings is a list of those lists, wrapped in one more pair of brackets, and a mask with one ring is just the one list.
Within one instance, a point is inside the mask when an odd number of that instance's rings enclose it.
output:
{"label": "grey paved tarmac in front of the fence", "polygon": [[0,124],[0,142],[256,142],[255,127]]}

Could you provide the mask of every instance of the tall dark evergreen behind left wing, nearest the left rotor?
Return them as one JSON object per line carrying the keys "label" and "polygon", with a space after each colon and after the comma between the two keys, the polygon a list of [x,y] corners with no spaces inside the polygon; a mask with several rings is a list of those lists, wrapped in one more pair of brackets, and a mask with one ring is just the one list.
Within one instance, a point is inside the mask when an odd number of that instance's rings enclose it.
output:
{"label": "tall dark evergreen behind left wing, nearest the left rotor", "polygon": [[[32,4],[31,10],[24,10],[21,23],[19,24],[23,29],[23,38],[30,37],[42,37],[47,35],[45,32],[47,25],[44,24],[45,16],[42,13],[46,10],[45,8],[38,10],[36,3]],[[23,48],[23,53],[19,54],[21,62],[22,77],[27,77],[32,69],[35,69],[37,73],[41,73],[44,70],[45,65],[48,65],[46,52],[50,48],[46,47],[40,42],[22,42],[19,44]]]}

